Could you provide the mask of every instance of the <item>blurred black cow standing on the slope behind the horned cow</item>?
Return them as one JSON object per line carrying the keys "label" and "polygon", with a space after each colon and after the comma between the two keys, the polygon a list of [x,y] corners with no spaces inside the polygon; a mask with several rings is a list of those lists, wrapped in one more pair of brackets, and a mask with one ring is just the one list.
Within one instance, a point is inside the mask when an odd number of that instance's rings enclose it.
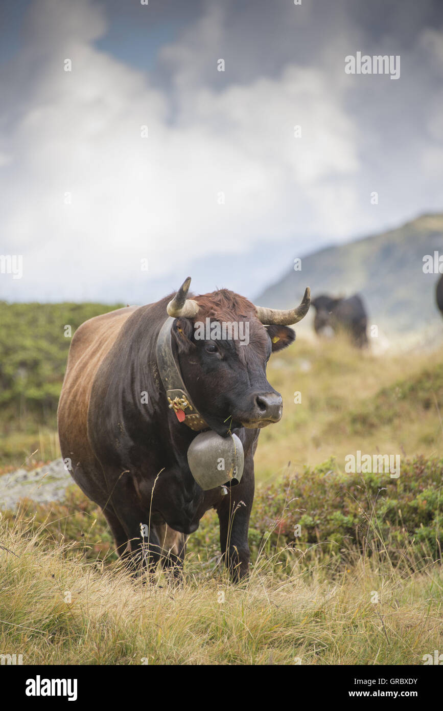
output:
{"label": "blurred black cow standing on the slope behind the horned cow", "polygon": [[[443,286],[442,286],[443,296]],[[314,328],[315,332],[321,335],[327,331],[346,331],[351,336],[354,346],[363,348],[368,345],[366,328],[368,316],[363,306],[363,301],[359,294],[349,296],[345,299],[339,296],[337,299],[332,296],[317,296],[311,301],[315,307]]]}

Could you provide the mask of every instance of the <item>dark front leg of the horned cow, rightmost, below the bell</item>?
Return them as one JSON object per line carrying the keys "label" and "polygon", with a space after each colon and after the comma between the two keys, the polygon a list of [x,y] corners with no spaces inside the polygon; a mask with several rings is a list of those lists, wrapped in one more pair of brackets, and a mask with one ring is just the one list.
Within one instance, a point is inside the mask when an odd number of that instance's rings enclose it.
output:
{"label": "dark front leg of the horned cow, rightmost, below the bell", "polygon": [[[246,484],[246,482],[245,482]],[[251,485],[247,487],[249,490]],[[243,486],[243,480],[238,486],[228,490],[217,507],[220,522],[220,545],[224,565],[231,573],[234,582],[246,577],[249,570],[251,552],[248,546],[249,517],[251,515],[251,491]]]}

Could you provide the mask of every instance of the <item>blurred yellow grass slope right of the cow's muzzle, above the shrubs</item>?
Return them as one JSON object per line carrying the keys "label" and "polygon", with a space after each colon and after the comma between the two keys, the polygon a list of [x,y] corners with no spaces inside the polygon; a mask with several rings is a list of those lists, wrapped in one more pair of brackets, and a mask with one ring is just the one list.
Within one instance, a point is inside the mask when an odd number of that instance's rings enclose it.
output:
{"label": "blurred yellow grass slope right of the cow's muzzle, above the shrubs", "polygon": [[271,358],[268,380],[283,395],[283,419],[260,435],[261,481],[289,461],[316,466],[334,456],[344,469],[344,457],[357,449],[443,455],[443,349],[372,355],[342,340],[300,338]]}

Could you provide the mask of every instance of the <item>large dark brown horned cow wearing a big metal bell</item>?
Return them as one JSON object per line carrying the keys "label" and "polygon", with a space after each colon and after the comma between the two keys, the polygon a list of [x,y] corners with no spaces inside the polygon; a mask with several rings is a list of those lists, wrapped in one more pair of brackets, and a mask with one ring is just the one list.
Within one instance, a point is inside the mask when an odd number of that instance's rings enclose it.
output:
{"label": "large dark brown horned cow wearing a big metal bell", "polygon": [[[180,568],[185,537],[215,508],[224,561],[237,578],[248,570],[258,434],[282,413],[266,363],[294,340],[286,324],[307,313],[309,289],[296,309],[273,311],[226,289],[187,299],[189,286],[187,279],[172,301],[111,311],[77,329],[58,407],[60,447],[133,570],[152,570],[159,560]],[[168,405],[156,352],[168,314],[173,358],[198,415],[185,417]],[[205,319],[247,322],[248,344],[196,338],[196,323]],[[238,486],[203,491],[195,481],[187,449],[198,428],[238,435],[244,448]]]}

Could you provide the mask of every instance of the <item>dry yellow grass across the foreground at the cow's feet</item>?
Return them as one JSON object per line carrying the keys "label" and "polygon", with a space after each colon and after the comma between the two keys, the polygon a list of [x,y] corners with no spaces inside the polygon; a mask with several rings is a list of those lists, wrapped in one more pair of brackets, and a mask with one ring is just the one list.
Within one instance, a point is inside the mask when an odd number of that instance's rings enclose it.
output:
{"label": "dry yellow grass across the foreground at the cow's feet", "polygon": [[328,579],[292,552],[285,574],[263,558],[237,586],[197,560],[182,584],[143,585],[50,550],[23,522],[1,534],[0,651],[24,664],[420,664],[443,648],[432,562],[411,573],[356,556]]}

